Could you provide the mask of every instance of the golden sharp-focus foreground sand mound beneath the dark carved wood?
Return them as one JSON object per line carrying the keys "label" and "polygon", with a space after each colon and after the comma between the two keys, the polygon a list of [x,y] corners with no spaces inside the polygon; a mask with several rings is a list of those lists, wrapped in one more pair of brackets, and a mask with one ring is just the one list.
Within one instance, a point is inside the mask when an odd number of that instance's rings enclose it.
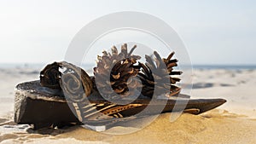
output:
{"label": "golden sharp-focus foreground sand mound beneath the dark carved wood", "polygon": [[[9,131],[3,143],[254,143],[256,120],[226,111],[213,110],[200,116],[183,114],[170,122],[170,113],[161,114],[143,130],[129,135],[107,135],[75,126],[66,130]],[[9,128],[5,128],[9,129]],[[124,130],[124,128],[113,128]],[[30,132],[30,134],[29,134]]]}

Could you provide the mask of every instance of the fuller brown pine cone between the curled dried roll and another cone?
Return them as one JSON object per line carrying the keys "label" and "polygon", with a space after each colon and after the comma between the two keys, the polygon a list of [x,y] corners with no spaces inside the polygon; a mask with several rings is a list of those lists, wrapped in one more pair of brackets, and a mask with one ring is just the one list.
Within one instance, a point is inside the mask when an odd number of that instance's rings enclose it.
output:
{"label": "fuller brown pine cone between the curled dried roll and another cone", "polygon": [[120,99],[134,95],[136,89],[142,87],[136,79],[140,67],[135,65],[141,57],[131,55],[136,47],[135,45],[128,53],[125,43],[118,53],[117,48],[113,46],[112,54],[103,51],[103,55],[97,57],[94,68],[96,87],[106,99]]}

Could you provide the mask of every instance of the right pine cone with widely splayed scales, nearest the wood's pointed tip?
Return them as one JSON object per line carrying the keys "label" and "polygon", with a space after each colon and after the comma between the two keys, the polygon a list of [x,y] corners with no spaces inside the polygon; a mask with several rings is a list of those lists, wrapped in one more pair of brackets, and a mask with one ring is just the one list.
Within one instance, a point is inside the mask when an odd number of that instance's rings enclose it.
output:
{"label": "right pine cone with widely splayed scales, nearest the wood's pointed tip", "polygon": [[[161,59],[160,55],[154,51],[154,60],[152,60],[150,56],[145,55],[147,62],[145,65],[139,63],[139,66],[143,69],[142,72],[138,73],[138,77],[141,78],[143,82],[143,95],[152,97],[153,95],[165,94],[169,97],[179,94],[181,89],[174,84],[179,82],[180,78],[172,76],[181,75],[182,72],[173,71],[173,67],[177,66],[177,59],[171,60],[173,55],[174,52],[172,52],[166,59]],[[166,91],[166,89],[168,91]]]}

